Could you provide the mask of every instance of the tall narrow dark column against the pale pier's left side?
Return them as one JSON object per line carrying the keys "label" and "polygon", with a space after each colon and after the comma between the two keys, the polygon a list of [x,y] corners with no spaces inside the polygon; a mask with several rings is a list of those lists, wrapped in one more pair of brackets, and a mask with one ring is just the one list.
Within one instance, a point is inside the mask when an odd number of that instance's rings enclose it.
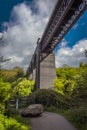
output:
{"label": "tall narrow dark column against the pale pier's left side", "polygon": [[37,41],[37,51],[36,51],[36,85],[35,89],[40,88],[40,38]]}

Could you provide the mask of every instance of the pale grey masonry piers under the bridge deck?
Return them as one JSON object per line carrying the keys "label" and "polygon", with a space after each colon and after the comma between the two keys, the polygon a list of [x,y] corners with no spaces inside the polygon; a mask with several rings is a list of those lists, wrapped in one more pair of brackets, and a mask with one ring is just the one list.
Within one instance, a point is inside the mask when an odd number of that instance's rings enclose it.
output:
{"label": "pale grey masonry piers under the bridge deck", "polygon": [[[35,81],[35,77],[36,69],[33,70],[29,78]],[[52,53],[40,63],[40,89],[52,89],[55,78],[55,57]]]}

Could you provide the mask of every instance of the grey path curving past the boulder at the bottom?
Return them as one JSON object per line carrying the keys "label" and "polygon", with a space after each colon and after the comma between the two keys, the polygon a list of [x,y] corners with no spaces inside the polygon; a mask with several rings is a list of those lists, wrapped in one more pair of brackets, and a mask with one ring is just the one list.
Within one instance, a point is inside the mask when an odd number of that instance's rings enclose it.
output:
{"label": "grey path curving past the boulder at the bottom", "polygon": [[31,130],[77,130],[63,116],[44,112],[41,117],[31,118]]}

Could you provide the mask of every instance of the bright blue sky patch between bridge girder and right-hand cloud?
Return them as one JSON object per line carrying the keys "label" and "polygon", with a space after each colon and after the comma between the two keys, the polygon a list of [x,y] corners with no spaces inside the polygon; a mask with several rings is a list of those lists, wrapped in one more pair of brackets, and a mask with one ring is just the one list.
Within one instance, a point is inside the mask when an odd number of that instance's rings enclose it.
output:
{"label": "bright blue sky patch between bridge girder and right-hand cloud", "polygon": [[[73,45],[82,39],[87,39],[87,11],[83,13],[83,15],[64,37],[64,40],[67,41],[67,46],[70,47],[73,47]],[[58,45],[55,51],[57,51],[60,46]]]}

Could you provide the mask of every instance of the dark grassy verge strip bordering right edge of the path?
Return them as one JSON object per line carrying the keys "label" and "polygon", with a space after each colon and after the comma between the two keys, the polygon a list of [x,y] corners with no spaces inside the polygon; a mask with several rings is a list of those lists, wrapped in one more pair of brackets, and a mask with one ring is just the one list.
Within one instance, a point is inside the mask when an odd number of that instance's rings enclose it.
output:
{"label": "dark grassy verge strip bordering right edge of the path", "polygon": [[63,115],[78,130],[87,130],[87,107],[63,110],[51,106],[48,108],[46,107],[45,110]]}

